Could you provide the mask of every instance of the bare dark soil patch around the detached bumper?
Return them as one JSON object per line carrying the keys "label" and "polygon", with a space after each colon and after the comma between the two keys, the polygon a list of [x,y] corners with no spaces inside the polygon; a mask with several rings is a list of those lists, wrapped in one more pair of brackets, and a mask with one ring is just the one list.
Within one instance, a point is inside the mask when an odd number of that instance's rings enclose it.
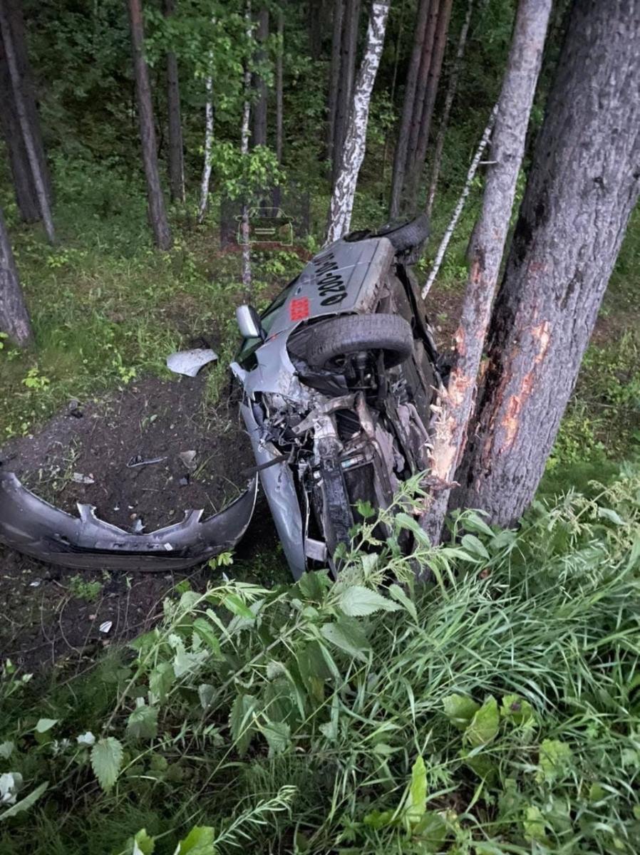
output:
{"label": "bare dark soil patch around the detached bumper", "polygon": [[[203,396],[204,377],[149,377],[98,403],[72,402],[39,433],[4,446],[3,470],[68,513],[86,502],[121,528],[151,531],[193,508],[210,516],[245,486],[254,461],[237,400],[224,394],[211,411]],[[191,468],[180,457],[185,451],[196,452]],[[155,458],[163,459],[132,465]],[[73,480],[80,475],[93,483]],[[275,545],[262,503],[240,560]],[[191,574],[75,571],[0,545],[0,657],[27,670],[74,673],[102,646],[151,627],[163,597],[187,576],[196,589],[213,578],[206,565]],[[107,633],[100,631],[104,622],[111,622]]]}

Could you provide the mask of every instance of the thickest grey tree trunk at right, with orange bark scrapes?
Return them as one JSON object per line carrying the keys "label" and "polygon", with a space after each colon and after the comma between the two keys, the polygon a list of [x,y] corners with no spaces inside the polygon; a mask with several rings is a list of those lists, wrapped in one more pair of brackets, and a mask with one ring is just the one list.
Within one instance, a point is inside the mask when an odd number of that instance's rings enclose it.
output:
{"label": "thickest grey tree trunk at right, with orange bark scrapes", "polygon": [[640,186],[640,0],[575,0],[489,331],[455,504],[509,525],[542,476]]}

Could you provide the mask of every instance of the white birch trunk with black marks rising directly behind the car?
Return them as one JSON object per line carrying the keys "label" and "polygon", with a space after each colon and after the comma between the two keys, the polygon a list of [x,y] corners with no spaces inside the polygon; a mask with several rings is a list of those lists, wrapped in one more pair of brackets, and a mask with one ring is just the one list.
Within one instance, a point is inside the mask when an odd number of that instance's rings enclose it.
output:
{"label": "white birch trunk with black marks rising directly behind the car", "polygon": [[349,112],[344,157],[331,196],[326,241],[328,244],[341,238],[349,230],[351,223],[353,198],[358,183],[360,166],[364,158],[371,91],[382,56],[388,10],[389,0],[373,0],[364,56],[360,64],[358,80],[353,90],[353,103]]}

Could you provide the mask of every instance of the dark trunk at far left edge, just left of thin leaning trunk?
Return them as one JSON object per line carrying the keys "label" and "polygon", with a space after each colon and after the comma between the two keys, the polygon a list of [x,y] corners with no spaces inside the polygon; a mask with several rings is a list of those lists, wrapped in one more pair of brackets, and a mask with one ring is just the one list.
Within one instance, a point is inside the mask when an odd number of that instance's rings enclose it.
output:
{"label": "dark trunk at far left edge, just left of thin leaning trunk", "polygon": [[33,183],[33,174],[27,157],[27,149],[22,139],[18,114],[15,112],[9,67],[4,57],[2,38],[0,38],[0,127],[9,155],[9,166],[13,178],[15,201],[23,222],[37,222],[41,219],[38,193]]}

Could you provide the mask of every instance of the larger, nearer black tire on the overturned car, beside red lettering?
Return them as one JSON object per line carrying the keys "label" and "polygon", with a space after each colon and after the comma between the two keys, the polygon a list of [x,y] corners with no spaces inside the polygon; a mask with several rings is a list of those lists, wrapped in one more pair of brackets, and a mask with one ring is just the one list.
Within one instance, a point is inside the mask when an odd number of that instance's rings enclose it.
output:
{"label": "larger, nearer black tire on the overturned car, beside red lettering", "polygon": [[412,327],[399,315],[343,315],[312,331],[305,361],[316,369],[335,369],[341,357],[359,351],[383,351],[385,366],[392,368],[413,352]]}

